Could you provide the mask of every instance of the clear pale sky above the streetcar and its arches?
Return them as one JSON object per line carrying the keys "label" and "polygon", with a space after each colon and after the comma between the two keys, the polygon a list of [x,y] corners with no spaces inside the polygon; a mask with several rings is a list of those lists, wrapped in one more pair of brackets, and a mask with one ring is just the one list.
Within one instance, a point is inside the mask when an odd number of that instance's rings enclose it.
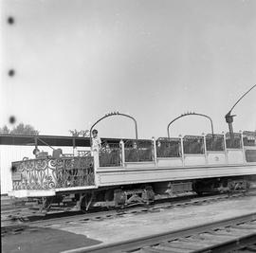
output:
{"label": "clear pale sky above the streetcar and its arches", "polygon": [[[0,126],[12,128],[14,116],[41,135],[68,136],[119,111],[137,119],[139,138],[151,138],[167,136],[168,123],[192,111],[210,116],[221,133],[229,109],[256,84],[254,0],[0,4]],[[256,88],[232,113],[235,132],[256,130]],[[135,136],[126,117],[96,128],[100,136]],[[170,131],[206,134],[210,122],[182,117]]]}

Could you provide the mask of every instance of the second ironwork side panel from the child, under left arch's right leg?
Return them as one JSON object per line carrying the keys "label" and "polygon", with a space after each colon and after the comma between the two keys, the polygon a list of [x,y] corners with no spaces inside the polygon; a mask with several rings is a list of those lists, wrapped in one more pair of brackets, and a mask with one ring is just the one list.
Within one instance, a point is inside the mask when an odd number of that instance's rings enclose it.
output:
{"label": "second ironwork side panel from the child, under left arch's right leg", "polygon": [[154,160],[153,141],[148,139],[127,140],[124,143],[125,162]]}

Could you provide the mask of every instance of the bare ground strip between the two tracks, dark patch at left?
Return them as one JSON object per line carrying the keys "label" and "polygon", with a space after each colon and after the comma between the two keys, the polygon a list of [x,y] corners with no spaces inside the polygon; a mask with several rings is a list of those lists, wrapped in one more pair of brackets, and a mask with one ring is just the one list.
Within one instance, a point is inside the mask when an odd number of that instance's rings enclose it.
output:
{"label": "bare ground strip between the two tracks, dark patch at left", "polygon": [[[256,211],[256,197],[228,199],[184,208],[129,214],[102,221],[76,221],[2,237],[2,252],[60,252],[92,244],[109,244],[159,232],[199,226]],[[27,231],[27,232],[26,232]],[[14,243],[13,243],[14,242]]]}

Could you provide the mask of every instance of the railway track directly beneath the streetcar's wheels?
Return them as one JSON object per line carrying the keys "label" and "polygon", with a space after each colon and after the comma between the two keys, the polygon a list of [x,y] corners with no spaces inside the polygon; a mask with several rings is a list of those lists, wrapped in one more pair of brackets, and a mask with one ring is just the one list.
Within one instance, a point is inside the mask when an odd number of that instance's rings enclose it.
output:
{"label": "railway track directly beneath the streetcar's wheels", "polygon": [[[210,194],[210,195],[203,195],[198,196],[196,193],[194,194],[188,194],[188,195],[181,195],[177,196],[175,198],[170,199],[164,199],[164,200],[156,200],[151,207],[154,208],[142,208],[141,211],[148,211],[148,209],[155,208],[172,208],[177,207],[179,205],[186,206],[191,204],[198,204],[205,202],[205,201],[217,201],[222,199],[227,199],[229,197],[240,197],[240,196],[249,196],[249,195],[255,195],[256,194],[256,188],[253,188],[247,192],[235,192],[231,195],[227,193],[219,193],[219,194]],[[198,202],[199,200],[199,202]],[[31,222],[36,220],[47,220],[52,219],[55,217],[65,217],[65,216],[73,216],[73,215],[80,215],[84,214],[85,211],[78,211],[78,210],[71,210],[71,208],[67,208],[68,211],[64,210],[63,208],[60,208],[58,205],[52,208],[52,210],[48,212],[40,212],[38,208],[35,208],[36,205],[35,201],[32,202],[14,202],[11,199],[9,200],[1,200],[1,221],[4,222],[4,226],[6,226],[8,223],[13,224],[13,222]],[[91,214],[93,212],[98,215],[98,213],[104,213],[104,212],[124,212],[127,211],[130,212],[131,209],[135,209],[137,211],[138,209],[141,209],[141,205],[138,204],[132,204],[128,207],[123,208],[109,208],[106,211],[102,211],[102,208],[94,208],[90,211],[86,211],[86,214]],[[3,225],[2,225],[3,226]]]}

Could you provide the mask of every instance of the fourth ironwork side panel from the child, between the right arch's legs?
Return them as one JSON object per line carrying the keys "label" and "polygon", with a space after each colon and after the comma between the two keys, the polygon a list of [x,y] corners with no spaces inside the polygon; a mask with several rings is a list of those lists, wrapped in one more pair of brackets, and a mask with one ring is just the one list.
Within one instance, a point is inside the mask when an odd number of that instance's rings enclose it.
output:
{"label": "fourth ironwork side panel from the child, between the right arch's legs", "polygon": [[203,136],[184,136],[183,137],[184,154],[205,154]]}

